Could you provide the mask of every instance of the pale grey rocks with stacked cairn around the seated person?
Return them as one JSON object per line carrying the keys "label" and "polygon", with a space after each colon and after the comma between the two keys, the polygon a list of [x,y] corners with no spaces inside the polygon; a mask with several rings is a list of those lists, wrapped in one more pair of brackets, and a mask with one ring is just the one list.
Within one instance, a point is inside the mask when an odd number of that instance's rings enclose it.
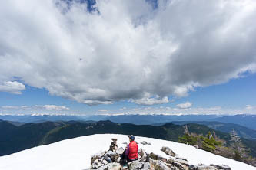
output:
{"label": "pale grey rocks with stacked cairn around the seated person", "polygon": [[119,162],[123,148],[118,148],[118,139],[112,139],[110,149],[91,158],[91,169],[99,170],[231,170],[228,165],[190,165],[188,160],[179,157],[169,147],[162,147],[161,151],[169,156],[168,159],[161,157],[153,152],[147,153],[143,149],[138,149],[138,160],[128,163],[122,167]]}

